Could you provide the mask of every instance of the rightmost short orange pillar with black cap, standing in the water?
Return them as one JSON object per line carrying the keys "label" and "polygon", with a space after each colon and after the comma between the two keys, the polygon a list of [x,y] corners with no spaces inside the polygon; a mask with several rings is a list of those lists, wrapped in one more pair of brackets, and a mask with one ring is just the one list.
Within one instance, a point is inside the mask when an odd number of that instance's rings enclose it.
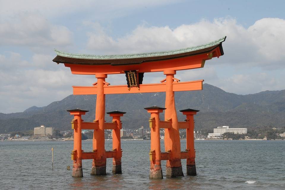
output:
{"label": "rightmost short orange pillar with black cap, standing in the water", "polygon": [[195,147],[194,147],[194,115],[199,110],[186,109],[180,110],[183,115],[186,115],[186,120],[189,121],[189,129],[186,129],[186,150],[189,151],[189,159],[187,159],[187,175],[197,175],[195,164]]}

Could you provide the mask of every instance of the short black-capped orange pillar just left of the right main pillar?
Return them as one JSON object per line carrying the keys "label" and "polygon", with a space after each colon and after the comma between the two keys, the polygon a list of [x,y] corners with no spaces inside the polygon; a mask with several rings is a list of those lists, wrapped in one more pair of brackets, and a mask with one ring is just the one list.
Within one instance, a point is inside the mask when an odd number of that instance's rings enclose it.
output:
{"label": "short black-capped orange pillar just left of the right main pillar", "polygon": [[151,151],[150,151],[150,172],[149,178],[162,179],[161,169],[161,152],[160,152],[160,132],[159,132],[159,113],[162,113],[166,108],[162,107],[146,107],[148,113],[151,113],[150,128],[151,128]]}

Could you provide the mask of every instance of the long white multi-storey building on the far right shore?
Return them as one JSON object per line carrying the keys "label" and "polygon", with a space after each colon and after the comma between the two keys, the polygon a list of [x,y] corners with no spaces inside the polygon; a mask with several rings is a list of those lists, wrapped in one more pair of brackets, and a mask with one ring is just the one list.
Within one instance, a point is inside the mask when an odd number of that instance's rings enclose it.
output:
{"label": "long white multi-storey building on the far right shore", "polygon": [[229,128],[229,126],[221,126],[214,129],[214,133],[208,134],[208,139],[223,139],[224,133],[246,134],[247,128]]}

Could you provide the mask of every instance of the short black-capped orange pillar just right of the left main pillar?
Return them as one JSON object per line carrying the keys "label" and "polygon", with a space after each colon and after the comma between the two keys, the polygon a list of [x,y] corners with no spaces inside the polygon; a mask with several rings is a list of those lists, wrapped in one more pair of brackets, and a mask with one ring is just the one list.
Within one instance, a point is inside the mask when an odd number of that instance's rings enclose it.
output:
{"label": "short black-capped orange pillar just right of the left main pillar", "polygon": [[117,124],[116,129],[113,129],[112,136],[113,136],[113,151],[116,151],[116,157],[113,158],[113,170],[112,173],[114,174],[121,174],[122,173],[122,149],[121,149],[121,116],[123,116],[126,112],[120,112],[120,111],[113,111],[113,112],[107,112],[107,114],[110,114],[111,117],[113,117],[114,123]]}

